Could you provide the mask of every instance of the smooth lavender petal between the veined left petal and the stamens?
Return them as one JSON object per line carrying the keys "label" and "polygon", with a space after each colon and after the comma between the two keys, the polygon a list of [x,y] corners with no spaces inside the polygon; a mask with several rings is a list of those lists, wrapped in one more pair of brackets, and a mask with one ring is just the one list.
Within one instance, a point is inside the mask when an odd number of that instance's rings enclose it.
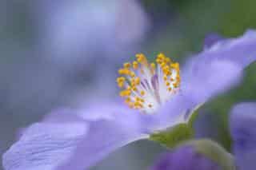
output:
{"label": "smooth lavender petal between the veined left petal and the stamens", "polygon": [[100,105],[100,109],[91,106],[88,111],[78,115],[89,123],[90,130],[79,144],[73,159],[59,169],[88,168],[114,149],[148,137],[141,120],[143,115],[125,105],[105,103]]}

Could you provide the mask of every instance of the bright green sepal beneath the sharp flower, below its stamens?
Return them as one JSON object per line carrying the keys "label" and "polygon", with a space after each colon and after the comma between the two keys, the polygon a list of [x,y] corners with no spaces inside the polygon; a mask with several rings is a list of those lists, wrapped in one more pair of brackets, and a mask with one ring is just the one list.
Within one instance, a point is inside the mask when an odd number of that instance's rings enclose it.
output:
{"label": "bright green sepal beneath the sharp flower, below its stamens", "polygon": [[158,142],[167,148],[174,148],[178,144],[182,144],[186,140],[191,140],[194,137],[193,123],[198,116],[199,105],[191,113],[189,113],[189,121],[181,123],[173,127],[167,128],[161,132],[154,132],[150,135],[150,140]]}

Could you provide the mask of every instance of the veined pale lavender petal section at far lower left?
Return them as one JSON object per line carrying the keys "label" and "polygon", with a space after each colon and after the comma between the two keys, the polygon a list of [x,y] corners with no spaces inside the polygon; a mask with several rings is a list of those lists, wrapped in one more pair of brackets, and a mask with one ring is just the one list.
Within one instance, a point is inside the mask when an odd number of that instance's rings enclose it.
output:
{"label": "veined pale lavender petal section at far lower left", "polygon": [[6,170],[57,169],[70,159],[86,135],[86,124],[38,123],[27,128],[21,138],[2,156]]}

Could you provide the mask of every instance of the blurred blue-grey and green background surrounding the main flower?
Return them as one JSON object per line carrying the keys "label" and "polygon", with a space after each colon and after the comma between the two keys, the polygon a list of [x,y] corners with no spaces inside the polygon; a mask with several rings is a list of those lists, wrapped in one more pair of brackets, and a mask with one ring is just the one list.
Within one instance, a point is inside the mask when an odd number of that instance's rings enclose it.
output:
{"label": "blurred blue-grey and green background surrounding the main flower", "polygon": [[[118,65],[135,53],[162,52],[182,63],[207,34],[256,28],[255,7],[254,0],[1,0],[0,155],[18,128],[52,109],[118,97]],[[242,84],[200,110],[198,137],[230,150],[228,113],[239,101],[256,100],[254,71],[250,65]],[[92,169],[145,169],[163,150],[138,141]]]}

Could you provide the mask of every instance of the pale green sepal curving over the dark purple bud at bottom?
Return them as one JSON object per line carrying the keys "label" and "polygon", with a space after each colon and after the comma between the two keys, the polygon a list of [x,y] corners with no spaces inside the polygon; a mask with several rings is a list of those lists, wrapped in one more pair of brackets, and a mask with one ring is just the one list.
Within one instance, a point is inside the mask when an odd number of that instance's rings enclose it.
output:
{"label": "pale green sepal curving over the dark purple bud at bottom", "polygon": [[236,169],[234,157],[213,140],[190,140],[185,145],[191,145],[196,152],[218,164],[222,170]]}

